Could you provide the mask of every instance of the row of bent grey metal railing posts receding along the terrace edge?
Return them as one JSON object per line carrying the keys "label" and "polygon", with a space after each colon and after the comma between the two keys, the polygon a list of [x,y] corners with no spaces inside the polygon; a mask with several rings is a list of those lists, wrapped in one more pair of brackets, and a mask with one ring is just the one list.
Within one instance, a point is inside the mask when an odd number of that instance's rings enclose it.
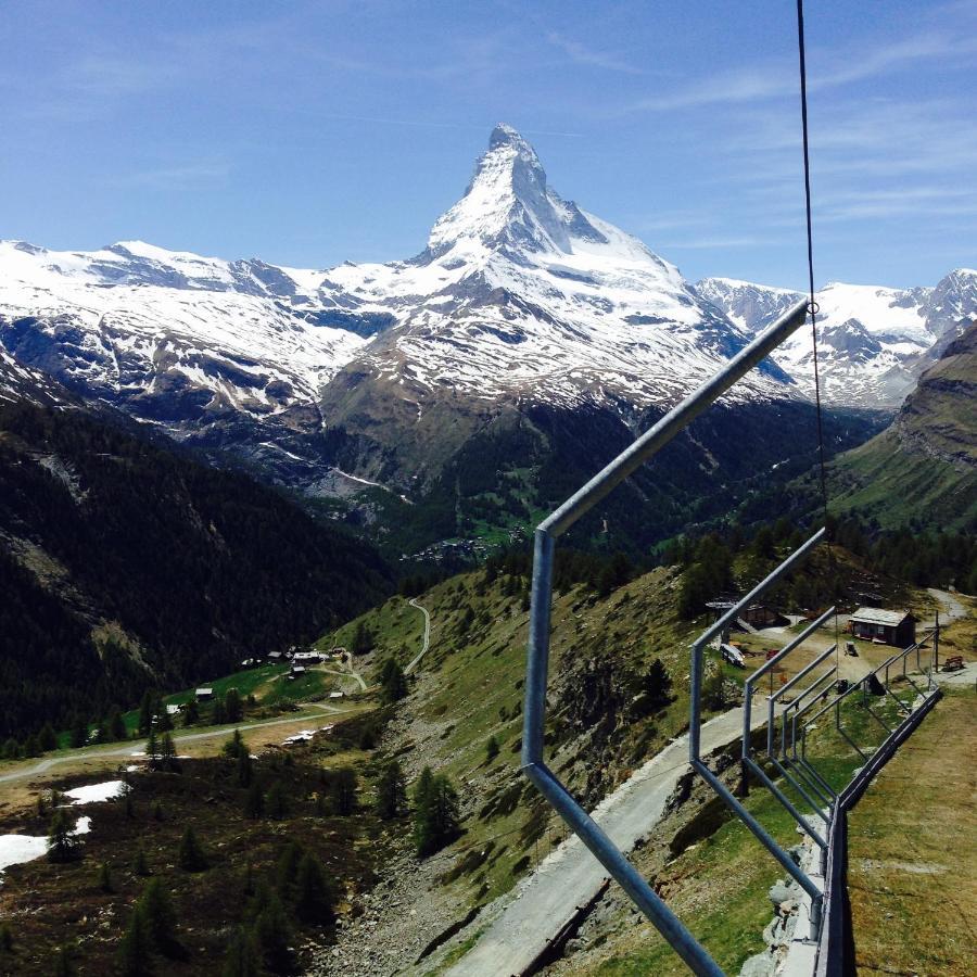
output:
{"label": "row of bent grey metal railing posts receding along the terrace edge", "polygon": [[[758,335],[749,345],[744,347],[729,363],[714,377],[703,383],[698,390],[687,396],[673,410],[669,411],[645,434],[622,452],[614,460],[605,466],[582,488],[574,493],[567,502],[559,506],[550,516],[544,519],[536,528],[533,542],[533,576],[530,605],[529,649],[526,656],[525,705],[523,712],[522,734],[522,771],[536,786],[541,794],[567,823],[570,829],[583,841],[595,858],[604,865],[608,874],[618,881],[629,894],[635,905],[645,914],[658,931],[664,937],[672,949],[686,963],[695,974],[722,975],[722,969],[712,960],[708,951],[695,939],[688,928],[669,909],[664,901],[655,892],[640,873],[627,861],[624,853],[614,845],[599,825],[587,814],[580,803],[567,790],[559,778],[546,765],[543,747],[546,722],[546,689],[549,672],[549,636],[553,602],[553,576],[554,558],[557,538],[569,530],[581,517],[586,515],[597,503],[604,499],[613,488],[633,474],[642,465],[648,461],[657,452],[664,447],[688,424],[690,424],[706,408],[714,403],[725,391],[753,369],[769,353],[790,337],[803,325],[807,315],[805,303],[799,302],[776,322]],[[779,580],[785,573],[803,560],[810,551],[823,540],[825,531],[819,530],[799,549],[784,560],[772,573],[761,581],[753,589],[727,610],[714,624],[702,632],[691,646],[690,669],[690,716],[689,716],[689,762],[693,770],[698,773],[709,786],[734,811],[746,827],[757,837],[766,850],[776,859],[784,871],[794,878],[811,900],[810,922],[811,938],[816,939],[822,919],[823,893],[819,885],[795,862],[790,854],[774,840],[763,825],[743,805],[726,785],[709,769],[701,757],[701,689],[703,654],[706,646],[729,625],[745,607],[748,607],[769,586]],[[823,672],[813,682],[805,686],[795,698],[782,708],[781,745],[779,750],[775,744],[776,709],[784,694],[799,685],[802,678],[810,675],[821,663],[834,652],[836,646],[828,648],[814,658],[800,672],[777,691],[771,690],[767,697],[766,715],[766,760],[771,766],[783,777],[803,802],[811,809],[811,815],[802,814],[797,805],[786,796],[762,769],[751,753],[751,712],[752,696],[756,683],[767,672],[771,672],[782,663],[788,655],[800,647],[807,638],[812,636],[833,614],[835,608],[830,608],[817,620],[812,622],[804,631],[782,649],[777,656],[761,665],[746,681],[744,699],[744,732],[743,732],[743,767],[745,778],[753,774],[764,787],[784,805],[797,824],[814,840],[824,852],[829,850],[830,838],[836,828],[837,817],[843,816],[840,805],[841,790],[836,790],[814,766],[807,756],[807,735],[813,727],[817,718],[832,708],[835,709],[836,726],[841,736],[866,760],[866,754],[854,740],[847,735],[840,725],[840,703],[846,696],[852,694],[863,682],[837,695],[827,705],[822,705],[828,695],[830,685],[825,685],[837,672],[835,667]],[[938,655],[938,627],[934,640],[934,661]],[[890,669],[894,663],[902,661],[905,673],[905,662],[909,655],[915,651],[917,665],[919,648],[917,645],[905,649],[901,655],[894,655],[872,673],[877,676],[880,670]],[[927,689],[932,688],[932,668],[928,675]],[[909,676],[905,675],[906,680]],[[931,708],[932,699],[937,693],[924,694],[915,683],[913,687],[923,695],[924,707]],[[889,675],[886,671],[886,694],[892,698],[888,688]],[[901,703],[904,705],[904,703]],[[800,720],[815,707],[821,706],[803,724]],[[911,712],[899,726],[902,729],[906,724],[917,720],[919,709]],[[877,716],[876,716],[877,719]],[[886,726],[888,731],[888,726]],[[897,729],[897,733],[899,731]],[[889,733],[891,741],[894,734]],[[800,749],[798,749],[798,744]],[[849,785],[850,787],[850,785]],[[815,826],[815,819],[824,822],[826,830],[820,830]]]}

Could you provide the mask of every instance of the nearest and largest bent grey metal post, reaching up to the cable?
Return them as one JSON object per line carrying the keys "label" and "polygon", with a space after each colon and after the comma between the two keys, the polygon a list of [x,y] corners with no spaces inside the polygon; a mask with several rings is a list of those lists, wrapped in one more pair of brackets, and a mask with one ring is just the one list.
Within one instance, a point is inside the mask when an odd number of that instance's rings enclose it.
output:
{"label": "nearest and largest bent grey metal post, reaching up to the cable", "polygon": [[[648,881],[635,871],[620,849],[573,799],[544,761],[553,562],[556,540],[687,428],[737,380],[752,370],[769,353],[796,332],[803,325],[805,316],[807,303],[798,302],[749,345],[740,350],[720,372],[689,394],[645,434],[636,439],[613,461],[594,475],[579,492],[544,519],[535,533],[522,733],[522,769],[571,830],[587,846],[696,974],[721,975],[723,972],[648,885]],[[698,734],[698,731],[696,733]],[[698,750],[698,735],[696,749]]]}

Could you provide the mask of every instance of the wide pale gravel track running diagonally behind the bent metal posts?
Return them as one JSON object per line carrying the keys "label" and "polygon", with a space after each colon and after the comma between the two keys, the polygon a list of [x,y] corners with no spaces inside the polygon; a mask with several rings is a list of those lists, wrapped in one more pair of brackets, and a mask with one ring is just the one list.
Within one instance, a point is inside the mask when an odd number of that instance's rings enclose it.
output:
{"label": "wide pale gravel track running diagonally behind the bent metal posts", "polygon": [[[756,712],[753,713],[756,716]],[[766,716],[757,719],[762,725]],[[733,709],[702,726],[708,754],[743,734],[743,710]],[[688,770],[688,736],[682,736],[649,760],[606,798],[594,820],[625,852],[658,822],[678,778]],[[573,915],[593,898],[607,872],[575,837],[569,838],[506,901],[488,906],[472,925],[487,928],[474,947],[447,973],[451,977],[509,977],[532,963]],[[487,914],[487,915],[486,915]]]}

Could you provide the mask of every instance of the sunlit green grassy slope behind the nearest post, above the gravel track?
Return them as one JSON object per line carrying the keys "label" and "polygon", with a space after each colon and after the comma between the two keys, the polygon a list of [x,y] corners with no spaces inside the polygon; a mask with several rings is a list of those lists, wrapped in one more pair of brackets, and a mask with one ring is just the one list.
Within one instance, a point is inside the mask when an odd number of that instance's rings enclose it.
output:
{"label": "sunlit green grassy slope behind the nearest post, above the gravel track", "polygon": [[[390,749],[414,776],[423,764],[446,772],[460,787],[466,834],[457,842],[459,877],[452,885],[459,905],[481,903],[507,891],[529,864],[546,854],[561,832],[518,774],[522,733],[522,680],[525,673],[526,623],[521,596],[504,596],[504,579],[485,585],[479,571],[453,578],[419,598],[431,613],[431,650]],[[524,582],[523,582],[524,583]],[[607,631],[612,652],[638,668],[661,658],[673,682],[675,701],[654,721],[621,731],[611,763],[610,789],[632,766],[644,762],[678,733],[687,721],[688,638],[691,626],[675,616],[676,578],[668,570],[646,574],[598,600],[575,587],[554,602],[550,688],[561,685],[561,667],[599,652],[598,635]],[[474,622],[462,633],[466,607]],[[359,663],[369,680],[388,654],[406,663],[421,647],[420,611],[403,598],[323,637],[323,646],[348,645],[359,621],[377,637],[378,650]],[[557,706],[551,713],[559,713]],[[494,736],[498,757],[485,759]],[[571,785],[583,789],[586,769],[578,759],[581,743],[569,737],[555,763]],[[461,864],[473,849],[494,848],[484,863]],[[515,873],[513,873],[515,866]],[[462,911],[459,910],[459,915]]]}

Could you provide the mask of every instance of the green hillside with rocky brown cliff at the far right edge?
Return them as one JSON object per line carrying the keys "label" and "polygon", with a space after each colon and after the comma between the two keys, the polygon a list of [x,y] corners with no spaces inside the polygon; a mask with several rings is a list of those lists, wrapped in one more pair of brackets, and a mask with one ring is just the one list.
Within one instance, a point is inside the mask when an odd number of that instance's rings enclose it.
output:
{"label": "green hillside with rocky brown cliff at the far right edge", "polygon": [[883,528],[977,529],[977,326],[921,378],[896,420],[830,467],[835,508]]}

